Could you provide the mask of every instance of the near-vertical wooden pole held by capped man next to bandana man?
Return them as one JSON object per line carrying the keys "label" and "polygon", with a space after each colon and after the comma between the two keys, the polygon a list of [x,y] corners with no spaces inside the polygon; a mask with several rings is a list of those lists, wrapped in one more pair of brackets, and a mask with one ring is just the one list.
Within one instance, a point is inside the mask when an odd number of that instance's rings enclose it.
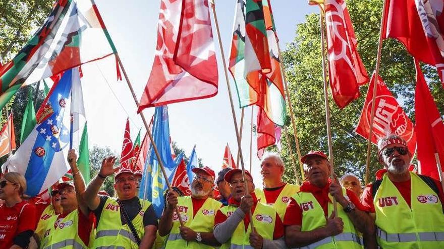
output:
{"label": "near-vertical wooden pole held by capped man next to bandana man", "polygon": [[[324,102],[325,102],[325,120],[327,123],[327,137],[328,137],[328,155],[330,156],[330,179],[331,181],[335,181],[335,168],[333,163],[333,145],[331,140],[331,126],[330,126],[330,107],[328,105],[328,90],[327,90],[327,70],[326,70],[326,61],[325,61],[325,35],[324,35],[324,13],[322,9],[320,9],[319,15],[319,25],[321,29],[321,55],[322,55],[322,77],[324,81]],[[336,206],[336,199],[333,198],[333,208],[335,216],[338,217],[338,208]]]}

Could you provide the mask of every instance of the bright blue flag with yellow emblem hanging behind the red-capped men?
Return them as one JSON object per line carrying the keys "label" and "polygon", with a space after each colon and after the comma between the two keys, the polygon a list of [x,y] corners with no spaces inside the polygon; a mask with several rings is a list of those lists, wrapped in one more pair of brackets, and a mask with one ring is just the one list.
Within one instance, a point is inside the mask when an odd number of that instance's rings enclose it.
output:
{"label": "bright blue flag with yellow emblem hanging behind the red-capped men", "polygon": [[[182,158],[181,156],[178,156],[176,159],[173,159],[171,154],[170,124],[168,121],[167,106],[156,107],[152,126],[152,136],[165,167],[165,172],[171,183],[177,165]],[[165,205],[165,198],[163,195],[168,189],[168,186],[163,178],[157,156],[152,149],[152,144],[150,145],[148,156],[146,158],[142,182],[140,184],[139,197],[150,201],[156,212],[157,218],[160,218]]]}

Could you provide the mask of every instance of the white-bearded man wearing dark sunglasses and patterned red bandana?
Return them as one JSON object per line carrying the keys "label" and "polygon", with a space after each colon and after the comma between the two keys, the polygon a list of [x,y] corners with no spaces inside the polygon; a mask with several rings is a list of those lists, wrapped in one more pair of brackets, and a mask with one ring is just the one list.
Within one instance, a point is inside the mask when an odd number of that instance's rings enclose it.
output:
{"label": "white-bearded man wearing dark sunglasses and patterned red bandana", "polygon": [[410,172],[412,153],[404,139],[378,141],[382,179],[367,185],[362,204],[375,219],[381,248],[444,248],[444,195],[441,183]]}

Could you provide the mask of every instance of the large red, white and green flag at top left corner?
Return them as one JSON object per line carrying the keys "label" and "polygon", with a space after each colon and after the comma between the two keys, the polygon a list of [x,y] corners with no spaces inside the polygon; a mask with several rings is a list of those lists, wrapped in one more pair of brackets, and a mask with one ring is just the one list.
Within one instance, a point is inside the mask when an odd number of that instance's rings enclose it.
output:
{"label": "large red, white and green flag at top left corner", "polygon": [[90,0],[60,0],[20,52],[0,68],[0,108],[22,85],[116,53]]}

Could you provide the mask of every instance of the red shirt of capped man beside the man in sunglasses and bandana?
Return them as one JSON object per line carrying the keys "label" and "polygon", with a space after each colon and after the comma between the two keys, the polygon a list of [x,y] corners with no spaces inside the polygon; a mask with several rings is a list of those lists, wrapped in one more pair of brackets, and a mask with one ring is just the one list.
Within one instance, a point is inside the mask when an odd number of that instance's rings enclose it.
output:
{"label": "red shirt of capped man beside the man in sunglasses and bandana", "polygon": [[[330,182],[326,184],[323,188],[318,188],[314,185],[311,185],[309,182],[304,182],[299,191],[313,194],[314,198],[316,198],[316,201],[324,210],[324,218],[327,218],[328,216],[328,202],[331,202],[330,198],[328,198],[329,187]],[[355,193],[348,189],[346,191],[350,201],[356,206],[357,209],[364,212],[369,211],[359,202],[358,197],[356,197]],[[290,204],[287,206],[287,211],[285,212],[284,216],[284,225],[302,225],[302,209],[293,198],[290,198]]]}

